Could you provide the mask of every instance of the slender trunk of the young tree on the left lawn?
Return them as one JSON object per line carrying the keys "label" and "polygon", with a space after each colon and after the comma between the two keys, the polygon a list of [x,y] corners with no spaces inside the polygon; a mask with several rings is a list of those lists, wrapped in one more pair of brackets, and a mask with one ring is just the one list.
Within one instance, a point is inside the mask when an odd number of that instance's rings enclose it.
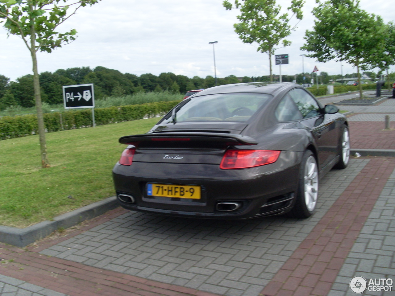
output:
{"label": "slender trunk of the young tree on the left lawn", "polygon": [[33,86],[34,101],[36,102],[36,113],[38,122],[38,137],[40,139],[41,166],[43,168],[50,167],[47,155],[47,142],[45,141],[45,126],[43,118],[43,109],[41,104],[40,78],[38,76],[37,56],[36,56],[36,34],[34,24],[31,25],[30,34],[30,54],[33,62]]}

